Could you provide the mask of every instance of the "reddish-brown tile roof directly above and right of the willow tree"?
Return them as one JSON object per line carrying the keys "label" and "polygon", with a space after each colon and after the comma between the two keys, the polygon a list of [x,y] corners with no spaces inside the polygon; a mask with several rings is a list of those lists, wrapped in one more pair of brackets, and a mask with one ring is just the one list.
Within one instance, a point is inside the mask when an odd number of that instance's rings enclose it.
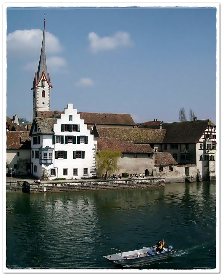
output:
{"label": "reddish-brown tile roof directly above and right of the willow tree", "polygon": [[134,142],[124,142],[115,138],[96,138],[97,151],[113,149],[122,153],[154,153],[148,144],[135,144]]}

